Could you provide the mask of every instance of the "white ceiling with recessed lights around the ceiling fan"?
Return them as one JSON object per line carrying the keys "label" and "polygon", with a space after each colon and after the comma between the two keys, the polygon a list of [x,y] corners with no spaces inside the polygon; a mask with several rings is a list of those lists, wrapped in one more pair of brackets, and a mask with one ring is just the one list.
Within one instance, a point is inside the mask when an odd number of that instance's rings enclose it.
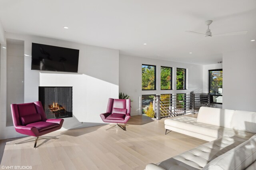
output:
{"label": "white ceiling with recessed lights around the ceiling fan", "polygon": [[[217,63],[224,52],[256,48],[256,0],[1,0],[0,20],[6,32],[185,63]],[[204,36],[185,31],[204,33],[206,20],[212,34],[248,33],[194,45]]]}

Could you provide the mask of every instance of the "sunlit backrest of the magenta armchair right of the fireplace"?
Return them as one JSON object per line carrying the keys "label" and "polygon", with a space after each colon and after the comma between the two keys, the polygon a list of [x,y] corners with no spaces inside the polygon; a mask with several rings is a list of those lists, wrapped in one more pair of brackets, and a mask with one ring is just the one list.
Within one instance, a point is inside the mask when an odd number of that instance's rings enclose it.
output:
{"label": "sunlit backrest of the magenta armchair right of the fireplace", "polygon": [[122,113],[123,109],[127,109],[125,114],[130,114],[131,112],[131,100],[130,99],[108,99],[108,107],[107,107],[107,113]]}

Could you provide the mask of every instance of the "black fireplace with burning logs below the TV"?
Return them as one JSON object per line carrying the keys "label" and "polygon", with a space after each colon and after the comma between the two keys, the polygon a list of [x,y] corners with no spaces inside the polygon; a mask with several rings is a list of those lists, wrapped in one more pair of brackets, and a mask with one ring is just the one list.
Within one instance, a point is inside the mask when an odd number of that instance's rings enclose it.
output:
{"label": "black fireplace with burning logs below the TV", "polygon": [[47,119],[72,117],[72,87],[39,87]]}

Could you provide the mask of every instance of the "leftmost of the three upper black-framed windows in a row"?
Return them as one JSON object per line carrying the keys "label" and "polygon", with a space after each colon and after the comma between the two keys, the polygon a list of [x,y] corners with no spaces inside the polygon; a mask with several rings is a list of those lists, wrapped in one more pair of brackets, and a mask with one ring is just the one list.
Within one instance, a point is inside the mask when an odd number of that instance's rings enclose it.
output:
{"label": "leftmost of the three upper black-framed windows in a row", "polygon": [[156,66],[142,64],[142,90],[156,90]]}

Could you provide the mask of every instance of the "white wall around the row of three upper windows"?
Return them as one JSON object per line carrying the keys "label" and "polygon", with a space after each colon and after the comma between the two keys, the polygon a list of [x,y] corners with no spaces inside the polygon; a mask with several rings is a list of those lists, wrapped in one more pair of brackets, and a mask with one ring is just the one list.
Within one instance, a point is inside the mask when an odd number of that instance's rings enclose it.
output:
{"label": "white wall around the row of three upper windows", "polygon": [[[142,91],[142,64],[156,65],[156,89]],[[160,90],[160,67],[172,67],[172,79],[174,90]],[[187,90],[176,90],[176,68],[187,69]],[[176,94],[176,93],[202,93],[202,65],[178,63],[173,61],[164,61],[157,59],[149,59],[143,57],[132,57],[120,55],[119,57],[119,92],[130,95],[130,99],[134,100],[131,105],[131,115],[140,115],[140,97],[150,94]]]}

